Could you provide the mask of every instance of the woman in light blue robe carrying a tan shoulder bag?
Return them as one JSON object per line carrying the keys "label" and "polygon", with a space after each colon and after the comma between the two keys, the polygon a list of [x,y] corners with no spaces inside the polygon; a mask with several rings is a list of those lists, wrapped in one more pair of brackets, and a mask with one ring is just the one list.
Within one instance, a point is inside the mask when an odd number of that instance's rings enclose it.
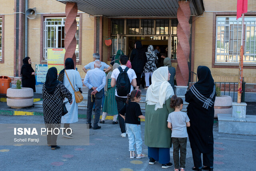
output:
{"label": "woman in light blue robe carrying a tan shoulder bag", "polygon": [[[70,81],[68,80],[68,78]],[[65,87],[67,87],[67,89],[72,94],[72,99],[74,101],[72,105],[66,104],[68,113],[61,118],[61,123],[64,123],[64,128],[67,129],[70,128],[70,123],[75,123],[78,121],[78,103],[76,103],[74,90],[80,91],[80,89],[82,89],[83,87],[82,79],[79,72],[74,70],[74,61],[72,60],[72,58],[67,58],[65,60],[65,69],[60,72],[58,80],[63,82]],[[74,90],[70,83],[74,87]],[[67,134],[64,134],[63,137],[73,138],[72,135]]]}

